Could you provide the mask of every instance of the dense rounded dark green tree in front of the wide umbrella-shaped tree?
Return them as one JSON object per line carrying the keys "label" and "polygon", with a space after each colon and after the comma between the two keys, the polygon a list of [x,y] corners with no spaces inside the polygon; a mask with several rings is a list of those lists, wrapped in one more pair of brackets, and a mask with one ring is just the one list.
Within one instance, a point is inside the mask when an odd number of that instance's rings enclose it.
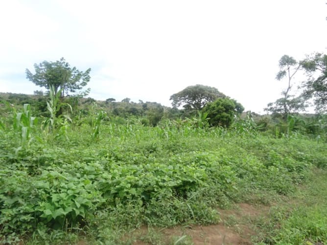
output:
{"label": "dense rounded dark green tree in front of the wide umbrella-shaped tree", "polygon": [[203,108],[204,113],[208,113],[209,123],[211,126],[231,126],[234,115],[242,113],[244,107],[230,98],[218,98],[213,102],[207,103]]}

